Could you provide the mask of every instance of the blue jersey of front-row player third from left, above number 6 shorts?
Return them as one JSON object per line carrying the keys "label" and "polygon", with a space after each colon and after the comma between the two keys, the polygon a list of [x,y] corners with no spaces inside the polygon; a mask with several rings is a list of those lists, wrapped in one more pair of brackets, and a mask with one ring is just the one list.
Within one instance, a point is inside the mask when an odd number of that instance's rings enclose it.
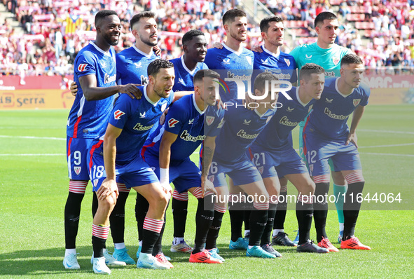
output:
{"label": "blue jersey of front-row player third from left, above number 6 shorts", "polygon": [[252,111],[243,107],[239,100],[230,100],[228,104],[233,105],[226,106],[223,128],[216,137],[214,151],[214,161],[227,164],[237,162],[244,156],[276,111],[276,108],[268,109],[260,116],[256,109]]}

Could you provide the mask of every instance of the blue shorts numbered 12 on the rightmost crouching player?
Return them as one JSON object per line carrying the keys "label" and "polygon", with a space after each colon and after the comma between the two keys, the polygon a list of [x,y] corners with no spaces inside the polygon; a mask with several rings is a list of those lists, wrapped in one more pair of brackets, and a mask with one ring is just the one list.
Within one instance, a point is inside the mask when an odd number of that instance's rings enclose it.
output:
{"label": "blue shorts numbered 12 on the rightmost crouching player", "polygon": [[308,132],[304,135],[304,153],[308,161],[310,175],[327,175],[330,172],[329,158],[333,170],[361,170],[361,160],[357,147],[350,143],[333,142],[320,135]]}

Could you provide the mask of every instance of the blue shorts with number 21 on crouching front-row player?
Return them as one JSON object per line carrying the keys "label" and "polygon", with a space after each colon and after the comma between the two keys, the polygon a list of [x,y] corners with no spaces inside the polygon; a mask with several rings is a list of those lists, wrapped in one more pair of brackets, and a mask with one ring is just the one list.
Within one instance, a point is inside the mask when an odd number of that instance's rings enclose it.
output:
{"label": "blue shorts with number 21 on crouching front-row player", "polygon": [[308,168],[293,147],[269,151],[253,144],[250,147],[250,156],[262,178],[308,172]]}

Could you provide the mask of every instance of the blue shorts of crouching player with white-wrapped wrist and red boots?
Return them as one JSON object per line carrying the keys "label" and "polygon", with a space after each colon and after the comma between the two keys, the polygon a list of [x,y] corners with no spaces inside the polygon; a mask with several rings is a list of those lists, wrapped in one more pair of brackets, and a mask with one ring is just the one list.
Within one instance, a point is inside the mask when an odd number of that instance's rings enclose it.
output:
{"label": "blue shorts of crouching player with white-wrapped wrist and red boots", "polygon": [[[160,161],[157,157],[146,154],[145,161],[153,168],[157,177],[160,177]],[[170,183],[174,184],[179,193],[193,187],[201,186],[201,170],[190,160],[170,162]]]}

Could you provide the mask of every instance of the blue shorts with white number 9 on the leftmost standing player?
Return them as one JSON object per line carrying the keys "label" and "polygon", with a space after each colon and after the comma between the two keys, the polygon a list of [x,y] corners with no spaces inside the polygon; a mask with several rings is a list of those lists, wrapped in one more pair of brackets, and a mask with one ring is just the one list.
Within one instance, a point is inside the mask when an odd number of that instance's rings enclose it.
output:
{"label": "blue shorts with white number 9 on the leftmost standing player", "polygon": [[70,179],[89,180],[87,160],[92,140],[79,137],[66,138],[67,170]]}

